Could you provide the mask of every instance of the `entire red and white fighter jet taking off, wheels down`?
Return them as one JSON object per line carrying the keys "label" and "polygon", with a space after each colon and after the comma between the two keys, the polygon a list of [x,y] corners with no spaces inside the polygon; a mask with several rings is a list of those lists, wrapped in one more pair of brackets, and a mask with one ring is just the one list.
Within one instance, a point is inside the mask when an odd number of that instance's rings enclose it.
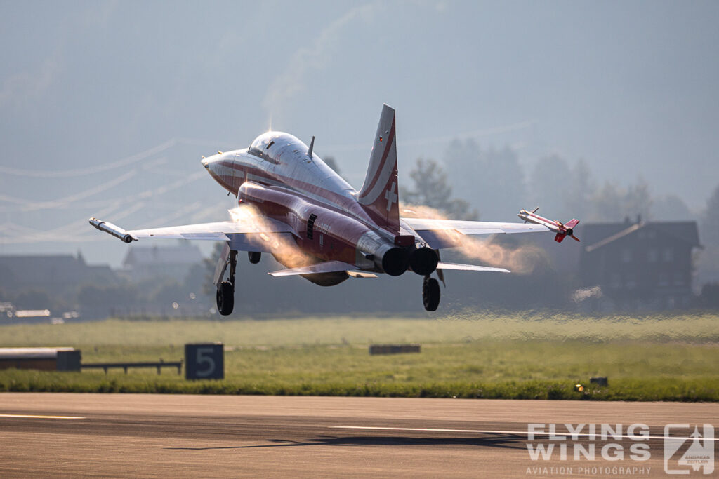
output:
{"label": "entire red and white fighter jet taking off, wheels down", "polygon": [[[533,233],[564,228],[522,210],[526,223],[400,218],[397,180],[395,111],[382,108],[373,139],[365,184],[357,191],[290,134],[269,131],[249,148],[218,152],[203,158],[209,174],[235,195],[239,208],[232,220],[125,231],[96,218],[90,224],[126,243],[140,238],[184,238],[224,241],[217,265],[217,309],[222,315],[234,307],[234,279],[238,251],[257,263],[272,254],[287,269],[273,276],[300,275],[320,286],[334,286],[353,277],[375,273],[400,276],[406,271],[423,276],[424,307],[439,305],[442,270],[500,271],[503,268],[440,261],[439,249],[461,246],[462,236],[493,233]],[[526,218],[522,216],[526,213]],[[539,220],[541,218],[541,221]],[[569,223],[567,223],[569,225]],[[562,229],[571,236],[571,228]]]}

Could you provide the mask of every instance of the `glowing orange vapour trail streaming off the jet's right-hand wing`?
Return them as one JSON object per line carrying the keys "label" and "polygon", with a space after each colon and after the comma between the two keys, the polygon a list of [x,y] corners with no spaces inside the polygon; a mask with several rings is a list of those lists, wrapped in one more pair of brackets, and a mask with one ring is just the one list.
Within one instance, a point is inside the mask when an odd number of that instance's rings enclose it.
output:
{"label": "glowing orange vapour trail streaming off the jet's right-hand wing", "polygon": [[[430,218],[434,220],[449,220],[446,215],[435,208],[423,205],[400,206],[401,215],[411,218]],[[438,223],[437,230],[446,241],[458,244],[455,248],[467,259],[475,259],[489,266],[507,268],[516,274],[531,274],[544,259],[544,251],[537,246],[521,245],[510,248],[491,239],[478,239],[475,236],[466,236],[452,229],[443,229],[444,225]]]}

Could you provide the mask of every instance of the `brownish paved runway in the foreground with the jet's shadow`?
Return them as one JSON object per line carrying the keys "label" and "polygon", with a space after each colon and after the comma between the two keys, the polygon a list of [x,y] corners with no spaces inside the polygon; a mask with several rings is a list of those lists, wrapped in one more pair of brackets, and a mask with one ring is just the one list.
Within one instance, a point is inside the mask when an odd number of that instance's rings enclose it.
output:
{"label": "brownish paved runway in the foreground with the jet's shadow", "polygon": [[[666,477],[665,425],[718,419],[718,404],[4,393],[0,476]],[[573,457],[592,444],[594,460]]]}

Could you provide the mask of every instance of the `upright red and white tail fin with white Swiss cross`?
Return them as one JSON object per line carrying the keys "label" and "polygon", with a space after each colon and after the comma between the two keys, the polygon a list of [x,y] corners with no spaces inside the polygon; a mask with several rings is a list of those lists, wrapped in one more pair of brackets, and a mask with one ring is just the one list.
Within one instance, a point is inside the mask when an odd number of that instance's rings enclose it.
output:
{"label": "upright red and white tail fin with white Swiss cross", "polygon": [[383,105],[380,124],[372,144],[370,167],[365,184],[357,193],[357,201],[390,233],[400,231],[399,183],[397,181],[397,141],[395,139],[395,111]]}

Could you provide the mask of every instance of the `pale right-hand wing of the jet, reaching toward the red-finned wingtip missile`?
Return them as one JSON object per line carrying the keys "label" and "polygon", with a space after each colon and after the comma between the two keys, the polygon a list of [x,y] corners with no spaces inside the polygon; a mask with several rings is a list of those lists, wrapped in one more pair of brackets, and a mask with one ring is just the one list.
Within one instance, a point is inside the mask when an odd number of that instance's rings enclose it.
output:
{"label": "pale right-hand wing of the jet, reaching toward the red-finned wingtip missile", "polygon": [[431,248],[459,246],[462,235],[495,233],[544,233],[551,231],[534,223],[497,223],[494,221],[433,220],[430,218],[402,218]]}

